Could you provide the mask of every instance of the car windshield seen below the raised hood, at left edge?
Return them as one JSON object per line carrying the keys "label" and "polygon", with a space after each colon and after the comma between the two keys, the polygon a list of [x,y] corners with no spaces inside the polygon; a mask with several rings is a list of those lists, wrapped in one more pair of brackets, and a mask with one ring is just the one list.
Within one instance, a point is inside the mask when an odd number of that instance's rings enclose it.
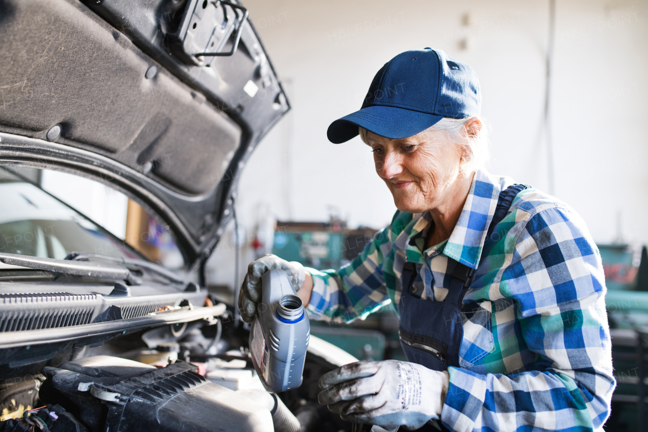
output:
{"label": "car windshield seen below the raised hood, at left edge", "polygon": [[70,252],[141,258],[42,189],[0,168],[0,252],[64,259]]}

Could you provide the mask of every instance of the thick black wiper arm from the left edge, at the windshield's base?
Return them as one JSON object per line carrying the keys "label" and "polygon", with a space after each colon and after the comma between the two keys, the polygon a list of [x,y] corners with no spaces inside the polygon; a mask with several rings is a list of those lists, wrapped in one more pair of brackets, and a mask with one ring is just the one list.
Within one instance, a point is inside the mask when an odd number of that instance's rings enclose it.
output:
{"label": "thick black wiper arm from the left edge, at the windshield's base", "polygon": [[0,262],[18,265],[29,269],[86,276],[106,280],[125,280],[128,285],[139,285],[141,282],[133,277],[130,270],[121,265],[94,263],[91,261],[65,261],[63,259],[40,258],[36,256],[5,254],[0,252]]}

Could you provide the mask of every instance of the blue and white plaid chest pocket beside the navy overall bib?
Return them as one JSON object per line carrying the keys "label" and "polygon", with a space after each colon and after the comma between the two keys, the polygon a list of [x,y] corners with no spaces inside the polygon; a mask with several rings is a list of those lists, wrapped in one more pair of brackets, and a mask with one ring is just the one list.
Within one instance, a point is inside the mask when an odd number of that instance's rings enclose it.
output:
{"label": "blue and white plaid chest pocket beside the navy overall bib", "polygon": [[461,307],[463,339],[459,365],[470,368],[495,350],[491,328],[491,302],[469,303]]}

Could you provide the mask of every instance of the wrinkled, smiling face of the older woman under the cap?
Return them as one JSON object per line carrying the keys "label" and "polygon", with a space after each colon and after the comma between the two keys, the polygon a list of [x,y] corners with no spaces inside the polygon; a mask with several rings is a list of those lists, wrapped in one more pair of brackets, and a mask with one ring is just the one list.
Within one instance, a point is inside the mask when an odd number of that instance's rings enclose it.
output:
{"label": "wrinkled, smiling face of the older woman under the cap", "polygon": [[421,213],[445,202],[461,176],[459,163],[466,150],[445,132],[424,130],[403,139],[367,132],[376,173],[384,180],[400,211]]}

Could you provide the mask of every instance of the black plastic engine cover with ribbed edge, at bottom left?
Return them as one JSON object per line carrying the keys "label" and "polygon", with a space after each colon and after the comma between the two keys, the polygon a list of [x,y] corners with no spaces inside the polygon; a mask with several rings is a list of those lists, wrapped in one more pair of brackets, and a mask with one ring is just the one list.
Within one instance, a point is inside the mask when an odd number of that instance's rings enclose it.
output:
{"label": "black plastic engine cover with ribbed edge, at bottom left", "polygon": [[209,432],[214,418],[222,430],[273,431],[267,408],[207,381],[184,361],[155,368],[100,355],[48,366],[43,374],[43,403],[68,402],[91,432]]}

